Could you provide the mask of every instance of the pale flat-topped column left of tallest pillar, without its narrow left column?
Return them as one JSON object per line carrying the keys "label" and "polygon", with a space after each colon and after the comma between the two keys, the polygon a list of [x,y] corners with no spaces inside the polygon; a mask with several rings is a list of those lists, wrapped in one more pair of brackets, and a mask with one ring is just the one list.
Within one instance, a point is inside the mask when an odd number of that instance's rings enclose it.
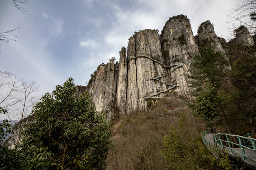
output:
{"label": "pale flat-topped column left of tallest pillar, without its narrow left column", "polygon": [[157,31],[146,29],[136,35],[136,67],[138,106],[140,110],[147,107],[145,97],[166,90],[165,84],[154,81],[152,78],[164,75],[161,45]]}

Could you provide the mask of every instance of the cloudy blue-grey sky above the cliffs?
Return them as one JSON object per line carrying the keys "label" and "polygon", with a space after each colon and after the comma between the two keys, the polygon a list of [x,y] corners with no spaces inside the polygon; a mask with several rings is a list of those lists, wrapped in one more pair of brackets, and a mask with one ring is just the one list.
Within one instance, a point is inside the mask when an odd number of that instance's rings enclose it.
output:
{"label": "cloudy blue-grey sky above the cliffs", "polygon": [[91,73],[144,29],[163,29],[169,17],[187,15],[193,34],[210,20],[218,36],[230,35],[227,17],[243,0],[30,0],[17,10],[0,0],[0,32],[15,29],[17,42],[0,41],[0,68],[35,80],[41,97],[73,77],[85,85]]}

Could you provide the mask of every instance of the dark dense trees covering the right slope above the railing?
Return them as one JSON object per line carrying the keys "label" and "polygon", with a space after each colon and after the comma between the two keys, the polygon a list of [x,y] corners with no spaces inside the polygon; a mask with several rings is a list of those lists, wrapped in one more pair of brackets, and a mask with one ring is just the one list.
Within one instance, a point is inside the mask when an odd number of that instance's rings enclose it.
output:
{"label": "dark dense trees covering the right slope above the railing", "polygon": [[193,97],[189,105],[194,115],[217,120],[214,124],[223,125],[223,132],[245,135],[256,127],[256,49],[235,40],[221,43],[225,55],[207,41],[199,44],[200,53],[192,58],[187,75]]}

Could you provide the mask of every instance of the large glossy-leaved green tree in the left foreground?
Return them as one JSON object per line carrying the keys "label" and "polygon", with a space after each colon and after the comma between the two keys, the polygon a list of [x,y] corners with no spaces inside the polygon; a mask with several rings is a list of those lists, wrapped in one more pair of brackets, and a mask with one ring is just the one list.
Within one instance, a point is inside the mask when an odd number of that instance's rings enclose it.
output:
{"label": "large glossy-leaved green tree in the left foreground", "polygon": [[69,78],[46,93],[34,107],[36,122],[28,124],[20,145],[22,169],[104,169],[111,146],[110,124],[97,112],[88,93],[75,100]]}

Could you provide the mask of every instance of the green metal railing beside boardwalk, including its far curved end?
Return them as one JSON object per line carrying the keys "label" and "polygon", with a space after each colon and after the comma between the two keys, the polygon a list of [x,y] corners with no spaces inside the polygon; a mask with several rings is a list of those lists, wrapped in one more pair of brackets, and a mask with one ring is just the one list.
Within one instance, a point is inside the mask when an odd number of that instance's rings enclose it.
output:
{"label": "green metal railing beside boardwalk, including its far curved end", "polygon": [[[204,136],[209,133],[210,133],[210,130],[205,130],[201,132],[201,136],[202,136],[203,143],[212,153],[216,153],[216,147],[219,146],[220,148],[222,148],[222,150],[224,150],[224,148],[227,148],[230,150],[231,153],[235,152],[235,153],[242,154],[245,161],[247,160],[247,158],[249,158],[250,160],[256,161],[256,159],[251,158],[245,152],[245,149],[248,149],[250,151],[254,151],[256,154],[256,144],[255,144],[256,139],[251,137],[251,135],[256,135],[256,134],[248,133],[246,136],[230,135],[230,134],[222,134],[222,133],[212,134],[214,139],[214,146],[213,146],[212,144],[210,144],[209,141],[207,141],[204,138]],[[238,139],[238,141],[234,142],[230,140],[230,138],[232,137],[235,137],[236,139]],[[235,150],[235,148],[240,148],[241,151],[239,152]]]}

